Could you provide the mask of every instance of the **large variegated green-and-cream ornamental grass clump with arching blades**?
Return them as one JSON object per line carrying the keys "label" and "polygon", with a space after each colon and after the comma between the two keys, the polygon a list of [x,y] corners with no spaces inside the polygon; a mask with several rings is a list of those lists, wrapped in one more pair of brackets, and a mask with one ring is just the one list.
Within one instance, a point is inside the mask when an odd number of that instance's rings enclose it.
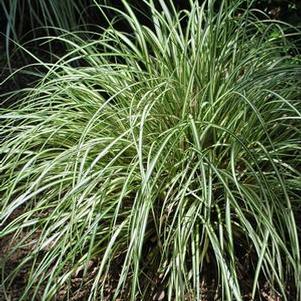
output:
{"label": "large variegated green-and-cream ornamental grass clump with arching blades", "polygon": [[152,26],[123,1],[131,33],[60,37],[69,54],[1,109],[6,298],[25,269],[19,300],[301,300],[286,25],[243,1],[159,2]]}

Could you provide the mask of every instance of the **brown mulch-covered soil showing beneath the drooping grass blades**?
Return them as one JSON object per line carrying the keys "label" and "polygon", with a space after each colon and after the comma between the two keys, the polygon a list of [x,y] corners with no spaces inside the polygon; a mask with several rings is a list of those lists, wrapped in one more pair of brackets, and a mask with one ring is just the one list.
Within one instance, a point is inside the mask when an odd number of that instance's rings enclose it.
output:
{"label": "brown mulch-covered soil showing beneath the drooping grass blades", "polygon": [[[10,217],[8,223],[17,218],[22,213],[22,209],[16,210]],[[30,235],[29,235],[30,234]],[[34,248],[36,242],[39,239],[40,233],[38,231],[34,233],[22,232],[15,237],[13,234],[0,239],[0,265],[5,270],[4,278],[12,273],[21,263],[22,259],[28,255]],[[18,244],[22,244],[22,247],[16,251]],[[245,256],[248,256],[247,252]],[[147,258],[147,254],[143,254],[143,258]],[[40,258],[40,260],[42,257]],[[69,289],[69,297],[66,297],[67,287],[62,287],[56,294],[54,301],[86,301],[91,290],[94,277],[97,274],[97,266],[99,260],[94,259],[88,263],[87,273],[84,275],[82,270],[77,271],[72,275],[71,289]],[[121,263],[115,262],[111,270],[110,279],[106,282],[105,293],[106,297],[103,301],[113,300],[113,294],[117,285],[118,275],[120,272]],[[29,277],[31,264],[22,266],[18,271],[17,277],[9,287],[0,286],[0,301],[19,301],[22,296],[22,291],[26,288],[27,279]],[[239,279],[241,282],[242,290],[244,291],[244,301],[254,301],[251,299],[252,279],[248,273],[248,266],[246,262],[238,263]],[[3,271],[2,271],[3,272]],[[151,279],[153,283],[156,283],[155,288],[150,290],[149,296],[141,301],[164,301],[167,300],[167,291],[162,285],[160,276],[154,276]],[[216,277],[212,273],[212,269],[208,269],[208,274],[204,275],[200,283],[201,299],[199,301],[221,301],[219,288],[216,282]],[[71,293],[70,293],[71,292]],[[269,289],[267,284],[262,285],[261,300],[263,301],[283,301],[280,295],[277,295]],[[40,287],[38,294],[33,299],[28,301],[40,301],[43,295],[43,285]],[[129,300],[128,294],[125,290],[124,297],[117,299],[116,301]],[[138,299],[140,300],[140,299]],[[138,301],[137,300],[137,301]],[[195,301],[192,296],[186,295],[183,301]],[[290,301],[296,301],[291,299]]]}

